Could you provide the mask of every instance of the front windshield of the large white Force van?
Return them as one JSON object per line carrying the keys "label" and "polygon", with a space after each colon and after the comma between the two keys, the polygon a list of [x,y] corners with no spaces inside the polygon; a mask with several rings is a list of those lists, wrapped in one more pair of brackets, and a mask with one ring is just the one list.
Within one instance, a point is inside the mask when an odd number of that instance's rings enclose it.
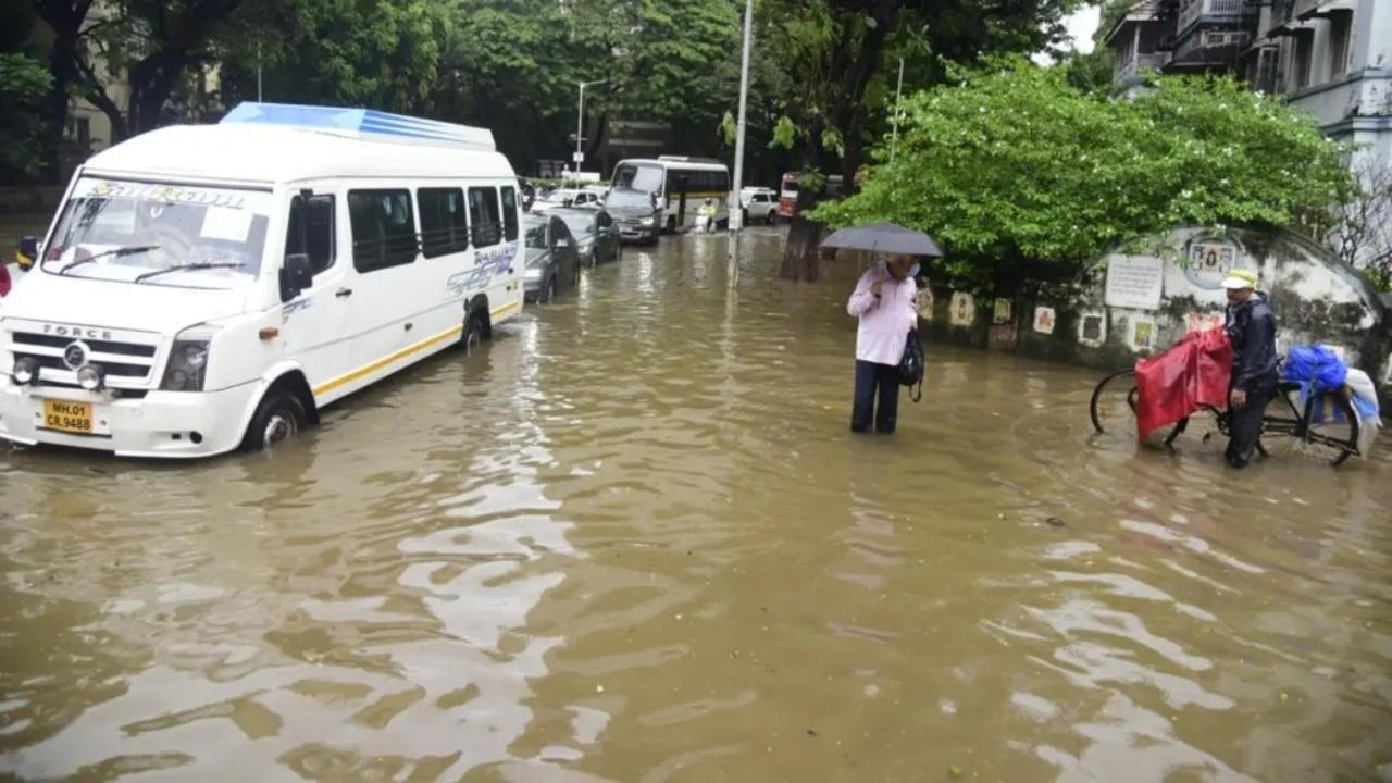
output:
{"label": "front windshield of the large white Force van", "polygon": [[82,177],[43,252],[53,274],[232,288],[260,273],[271,194]]}

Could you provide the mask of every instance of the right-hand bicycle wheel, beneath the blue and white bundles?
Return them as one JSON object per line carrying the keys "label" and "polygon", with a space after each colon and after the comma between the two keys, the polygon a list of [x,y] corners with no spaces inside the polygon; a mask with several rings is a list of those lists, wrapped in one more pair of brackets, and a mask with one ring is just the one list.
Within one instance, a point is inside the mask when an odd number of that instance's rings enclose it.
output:
{"label": "right-hand bicycle wheel, beneath the blue and white bundles", "polygon": [[1300,390],[1283,385],[1267,403],[1258,443],[1278,460],[1338,465],[1359,450],[1359,417],[1343,392],[1302,403]]}

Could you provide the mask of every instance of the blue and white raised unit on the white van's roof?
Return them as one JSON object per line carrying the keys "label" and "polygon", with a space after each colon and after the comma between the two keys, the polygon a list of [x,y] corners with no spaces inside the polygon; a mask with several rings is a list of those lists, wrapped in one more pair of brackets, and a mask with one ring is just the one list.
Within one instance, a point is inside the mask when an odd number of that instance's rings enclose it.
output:
{"label": "blue and white raised unit on the white van's roof", "polygon": [[422,120],[402,114],[388,114],[372,109],[342,109],[338,106],[294,106],[290,103],[239,103],[223,117],[220,124],[280,125],[287,128],[316,128],[363,139],[466,146],[494,152],[493,132],[437,120]]}

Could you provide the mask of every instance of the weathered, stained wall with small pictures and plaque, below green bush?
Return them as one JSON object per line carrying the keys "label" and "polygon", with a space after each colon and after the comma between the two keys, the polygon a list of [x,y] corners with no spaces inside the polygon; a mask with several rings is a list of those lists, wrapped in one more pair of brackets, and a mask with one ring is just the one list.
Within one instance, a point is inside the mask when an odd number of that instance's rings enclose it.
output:
{"label": "weathered, stained wall with small pictures and plaque, below green bush", "polygon": [[1030,286],[1037,293],[999,305],[933,287],[924,333],[930,340],[1116,369],[1190,329],[1221,325],[1226,298],[1219,281],[1231,268],[1250,269],[1271,298],[1276,348],[1335,347],[1378,382],[1384,410],[1392,411],[1392,322],[1382,297],[1347,265],[1289,231],[1180,228],[1146,247],[1144,254],[1100,259],[1077,283]]}

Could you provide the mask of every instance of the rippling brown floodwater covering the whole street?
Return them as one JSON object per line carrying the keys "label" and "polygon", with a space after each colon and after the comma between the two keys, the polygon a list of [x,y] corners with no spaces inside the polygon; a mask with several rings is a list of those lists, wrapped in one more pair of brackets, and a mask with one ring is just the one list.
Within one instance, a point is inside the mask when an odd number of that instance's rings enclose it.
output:
{"label": "rippling brown floodwater covering the whole street", "polygon": [[0,775],[1392,762],[1386,456],[1098,440],[1098,373],[947,346],[896,435],[852,436],[857,270],[781,281],[778,242],[734,284],[724,237],[629,248],[273,456],[0,450]]}

